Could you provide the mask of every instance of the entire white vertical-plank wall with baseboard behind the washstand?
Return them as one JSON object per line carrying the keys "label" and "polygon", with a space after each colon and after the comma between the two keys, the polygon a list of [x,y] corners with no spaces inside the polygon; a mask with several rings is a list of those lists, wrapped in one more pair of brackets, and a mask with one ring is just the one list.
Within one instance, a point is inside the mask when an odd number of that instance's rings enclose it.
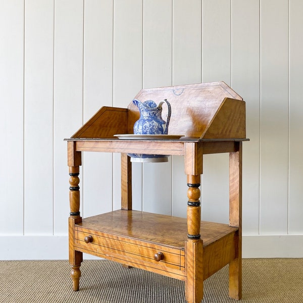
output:
{"label": "entire white vertical-plank wall with baseboard behind the washstand", "polygon": [[[243,255],[303,257],[302,14],[301,0],[0,0],[0,259],[68,257],[63,139],[100,107],[220,80],[246,101]],[[83,164],[82,216],[120,208],[120,155]],[[183,171],[134,163],[134,208],[185,217]],[[201,200],[228,222],[228,155],[205,156]]]}

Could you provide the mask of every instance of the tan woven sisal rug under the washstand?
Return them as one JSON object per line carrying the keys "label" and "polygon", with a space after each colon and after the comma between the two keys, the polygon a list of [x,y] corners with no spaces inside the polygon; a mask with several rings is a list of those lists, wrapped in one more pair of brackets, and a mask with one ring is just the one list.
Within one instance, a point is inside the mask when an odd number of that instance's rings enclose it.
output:
{"label": "tan woven sisal rug under the washstand", "polygon": [[[106,260],[84,261],[72,290],[68,261],[0,261],[2,303],[185,303],[184,282]],[[228,267],[204,282],[203,303],[228,298]],[[244,259],[241,303],[303,302],[303,259]]]}

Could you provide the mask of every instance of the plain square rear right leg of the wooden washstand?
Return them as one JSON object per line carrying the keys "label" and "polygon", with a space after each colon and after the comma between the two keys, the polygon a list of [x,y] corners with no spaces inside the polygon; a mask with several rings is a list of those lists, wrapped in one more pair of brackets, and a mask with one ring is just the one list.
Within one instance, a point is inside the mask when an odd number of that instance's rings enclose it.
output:
{"label": "plain square rear right leg of the wooden washstand", "polygon": [[242,142],[229,154],[229,225],[238,226],[236,258],[229,263],[229,296],[242,297]]}

